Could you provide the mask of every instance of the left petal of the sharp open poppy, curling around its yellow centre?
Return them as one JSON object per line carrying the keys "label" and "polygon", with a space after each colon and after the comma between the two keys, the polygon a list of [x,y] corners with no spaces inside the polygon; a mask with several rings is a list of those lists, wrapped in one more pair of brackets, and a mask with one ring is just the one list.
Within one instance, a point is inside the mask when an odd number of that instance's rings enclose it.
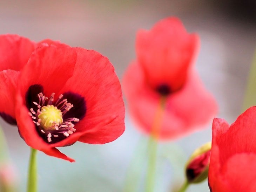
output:
{"label": "left petal of the sharp open poppy, curling around its yellow centre", "polygon": [[50,147],[43,141],[35,129],[32,118],[28,115],[25,95],[31,85],[40,84],[44,88],[44,94],[49,96],[52,92],[59,90],[73,75],[76,62],[76,52],[64,45],[48,46],[41,44],[31,55],[27,65],[20,73],[18,91],[16,94],[15,114],[20,135],[25,142],[34,149],[43,151],[48,155],[72,161]]}

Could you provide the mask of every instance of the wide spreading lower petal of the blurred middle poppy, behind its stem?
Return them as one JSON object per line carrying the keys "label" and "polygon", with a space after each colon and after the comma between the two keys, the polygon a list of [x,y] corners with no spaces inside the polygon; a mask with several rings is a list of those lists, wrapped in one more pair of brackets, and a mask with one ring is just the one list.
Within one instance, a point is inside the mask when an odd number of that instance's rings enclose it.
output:
{"label": "wide spreading lower petal of the blurred middle poppy, behind its stem", "polygon": [[[123,89],[135,121],[144,132],[150,133],[160,95],[148,86],[138,64],[130,65],[124,74]],[[167,97],[160,139],[174,139],[192,132],[206,124],[216,112],[216,101],[198,76],[190,73],[183,88]]]}

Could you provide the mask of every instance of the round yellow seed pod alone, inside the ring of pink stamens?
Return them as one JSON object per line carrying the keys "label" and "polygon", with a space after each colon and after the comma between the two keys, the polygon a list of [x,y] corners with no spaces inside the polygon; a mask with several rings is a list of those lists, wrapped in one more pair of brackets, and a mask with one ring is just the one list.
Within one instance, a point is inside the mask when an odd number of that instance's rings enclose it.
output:
{"label": "round yellow seed pod alone, inside the ring of pink stamens", "polygon": [[53,105],[43,106],[38,118],[41,119],[40,125],[44,130],[53,130],[54,124],[63,122],[61,110]]}

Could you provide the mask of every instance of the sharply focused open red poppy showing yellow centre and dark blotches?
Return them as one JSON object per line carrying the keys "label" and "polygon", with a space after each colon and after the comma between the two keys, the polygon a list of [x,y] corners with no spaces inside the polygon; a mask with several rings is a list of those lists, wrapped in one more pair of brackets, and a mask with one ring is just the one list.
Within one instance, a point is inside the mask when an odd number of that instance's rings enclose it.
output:
{"label": "sharply focused open red poppy showing yellow centre and dark blotches", "polygon": [[101,54],[42,43],[20,71],[15,116],[29,146],[72,162],[56,147],[104,144],[122,135],[121,86]]}

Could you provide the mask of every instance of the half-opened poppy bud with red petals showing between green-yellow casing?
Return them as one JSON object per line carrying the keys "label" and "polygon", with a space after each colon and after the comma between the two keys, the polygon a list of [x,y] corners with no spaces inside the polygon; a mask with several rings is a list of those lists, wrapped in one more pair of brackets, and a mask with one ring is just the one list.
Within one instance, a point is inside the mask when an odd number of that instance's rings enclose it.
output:
{"label": "half-opened poppy bud with red petals showing between green-yellow casing", "polygon": [[200,183],[208,177],[211,142],[197,148],[190,156],[186,166],[188,183]]}

